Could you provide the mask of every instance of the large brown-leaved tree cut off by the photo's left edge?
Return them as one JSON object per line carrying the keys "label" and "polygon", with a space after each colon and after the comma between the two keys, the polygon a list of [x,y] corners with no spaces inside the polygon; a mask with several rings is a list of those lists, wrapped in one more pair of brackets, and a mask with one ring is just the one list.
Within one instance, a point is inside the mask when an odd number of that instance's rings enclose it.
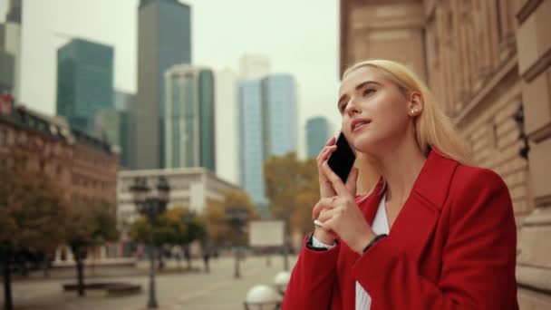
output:
{"label": "large brown-leaved tree cut off by the photo's left edge", "polygon": [[63,240],[58,223],[66,215],[62,190],[43,173],[28,170],[23,159],[16,151],[0,159],[0,262],[8,310],[13,308],[10,264],[14,255],[56,247]]}

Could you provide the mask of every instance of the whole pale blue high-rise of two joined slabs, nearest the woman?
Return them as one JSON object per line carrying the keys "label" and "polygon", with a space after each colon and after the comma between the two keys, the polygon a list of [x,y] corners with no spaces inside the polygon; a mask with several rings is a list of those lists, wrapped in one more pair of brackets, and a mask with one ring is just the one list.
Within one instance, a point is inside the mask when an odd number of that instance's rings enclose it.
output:
{"label": "whole pale blue high-rise of two joined slabs, nearest the woman", "polygon": [[264,162],[296,151],[295,79],[270,74],[243,80],[238,92],[240,183],[259,208],[266,208]]}

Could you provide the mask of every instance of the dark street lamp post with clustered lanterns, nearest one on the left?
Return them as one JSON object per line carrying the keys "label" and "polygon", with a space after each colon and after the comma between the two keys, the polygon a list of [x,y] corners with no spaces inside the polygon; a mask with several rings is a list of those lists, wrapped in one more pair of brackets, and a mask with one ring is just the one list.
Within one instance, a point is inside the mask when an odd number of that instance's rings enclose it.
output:
{"label": "dark street lamp post with clustered lanterns, nearest one on the left", "polygon": [[147,179],[137,177],[131,186],[131,193],[138,212],[148,219],[150,226],[150,291],[148,297],[148,308],[157,308],[155,294],[155,244],[153,242],[153,227],[160,214],[167,210],[169,203],[169,182],[164,177],[159,178],[155,192],[147,184]]}

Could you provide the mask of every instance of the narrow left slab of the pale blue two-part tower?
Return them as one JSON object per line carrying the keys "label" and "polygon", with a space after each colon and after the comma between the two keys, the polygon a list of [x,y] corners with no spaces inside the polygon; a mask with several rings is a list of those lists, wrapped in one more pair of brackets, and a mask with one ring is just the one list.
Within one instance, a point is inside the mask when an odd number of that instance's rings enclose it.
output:
{"label": "narrow left slab of the pale blue two-part tower", "polygon": [[240,184],[258,206],[266,205],[262,83],[244,80],[238,84]]}

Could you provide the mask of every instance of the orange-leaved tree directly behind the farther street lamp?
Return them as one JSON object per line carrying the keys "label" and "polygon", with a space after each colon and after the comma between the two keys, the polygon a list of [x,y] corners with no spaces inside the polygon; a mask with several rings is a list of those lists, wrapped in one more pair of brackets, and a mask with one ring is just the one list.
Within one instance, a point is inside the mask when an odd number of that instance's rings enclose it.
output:
{"label": "orange-leaved tree directly behind the farther street lamp", "polygon": [[247,211],[247,223],[260,218],[255,205],[246,193],[228,191],[222,202],[210,201],[205,211],[205,223],[208,237],[217,246],[224,244],[243,245],[247,242],[246,235],[236,233],[226,218],[227,208],[244,208]]}

